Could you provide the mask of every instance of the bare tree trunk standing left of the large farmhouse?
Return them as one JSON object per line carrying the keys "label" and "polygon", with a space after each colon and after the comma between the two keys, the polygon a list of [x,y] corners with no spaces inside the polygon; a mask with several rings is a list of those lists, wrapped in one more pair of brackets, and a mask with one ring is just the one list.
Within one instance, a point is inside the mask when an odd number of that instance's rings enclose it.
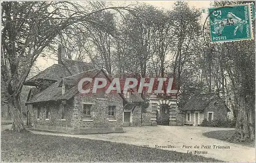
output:
{"label": "bare tree trunk standing left of the large farmhouse", "polygon": [[18,100],[18,96],[13,96],[10,104],[10,112],[12,116],[12,128],[13,131],[22,132],[25,129],[23,117],[22,117],[22,110]]}

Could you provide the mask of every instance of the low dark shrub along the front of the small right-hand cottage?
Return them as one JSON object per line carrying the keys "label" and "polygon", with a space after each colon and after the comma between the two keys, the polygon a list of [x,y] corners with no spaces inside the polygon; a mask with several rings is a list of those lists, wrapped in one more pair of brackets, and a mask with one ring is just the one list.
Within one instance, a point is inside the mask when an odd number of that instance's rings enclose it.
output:
{"label": "low dark shrub along the front of the small right-hand cottage", "polygon": [[228,118],[224,119],[215,119],[212,121],[207,121],[205,118],[201,124],[201,126],[204,127],[235,127],[236,126],[236,120],[230,120]]}

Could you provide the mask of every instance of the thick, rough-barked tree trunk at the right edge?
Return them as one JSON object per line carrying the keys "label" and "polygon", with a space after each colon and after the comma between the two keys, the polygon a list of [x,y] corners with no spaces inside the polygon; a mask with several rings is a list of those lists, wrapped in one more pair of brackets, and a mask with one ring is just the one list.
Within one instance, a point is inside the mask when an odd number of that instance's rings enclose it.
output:
{"label": "thick, rough-barked tree trunk at the right edge", "polygon": [[254,140],[254,110],[244,95],[240,96],[240,110],[237,117],[236,134],[240,141]]}

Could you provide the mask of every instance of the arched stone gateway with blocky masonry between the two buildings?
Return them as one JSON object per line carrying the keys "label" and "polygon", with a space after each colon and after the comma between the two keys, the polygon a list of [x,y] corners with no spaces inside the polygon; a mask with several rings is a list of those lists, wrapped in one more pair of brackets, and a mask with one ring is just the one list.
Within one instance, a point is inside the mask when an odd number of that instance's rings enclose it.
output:
{"label": "arched stone gateway with blocky masonry between the two buildings", "polygon": [[[152,107],[152,125],[177,125],[177,99],[150,98],[150,106]],[[167,116],[168,119],[166,119]]]}

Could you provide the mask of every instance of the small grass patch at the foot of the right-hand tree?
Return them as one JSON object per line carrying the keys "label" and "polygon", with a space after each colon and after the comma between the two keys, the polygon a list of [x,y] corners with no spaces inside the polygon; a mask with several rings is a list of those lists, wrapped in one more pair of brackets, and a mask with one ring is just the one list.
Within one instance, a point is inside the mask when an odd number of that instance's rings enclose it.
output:
{"label": "small grass patch at the foot of the right-hand tree", "polygon": [[[231,135],[234,133],[234,130],[220,130],[220,131],[210,131],[210,132],[205,132],[203,135],[207,138],[214,138],[222,141],[226,141]],[[232,142],[244,146],[249,146],[249,147],[255,147],[255,142]]]}

